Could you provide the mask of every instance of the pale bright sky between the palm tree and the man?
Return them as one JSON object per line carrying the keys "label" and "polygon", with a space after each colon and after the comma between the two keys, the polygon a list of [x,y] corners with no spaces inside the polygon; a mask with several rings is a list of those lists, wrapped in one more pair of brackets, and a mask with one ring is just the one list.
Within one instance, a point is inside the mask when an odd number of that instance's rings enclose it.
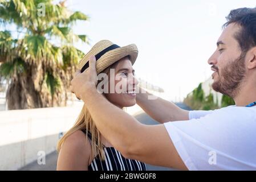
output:
{"label": "pale bright sky between the palm tree and the man", "polygon": [[74,31],[88,35],[91,45],[76,47],[86,53],[102,39],[119,46],[135,43],[137,77],[160,86],[165,98],[177,101],[212,75],[207,61],[216,49],[225,16],[232,9],[255,7],[256,2],[67,0],[66,5],[90,16]]}

